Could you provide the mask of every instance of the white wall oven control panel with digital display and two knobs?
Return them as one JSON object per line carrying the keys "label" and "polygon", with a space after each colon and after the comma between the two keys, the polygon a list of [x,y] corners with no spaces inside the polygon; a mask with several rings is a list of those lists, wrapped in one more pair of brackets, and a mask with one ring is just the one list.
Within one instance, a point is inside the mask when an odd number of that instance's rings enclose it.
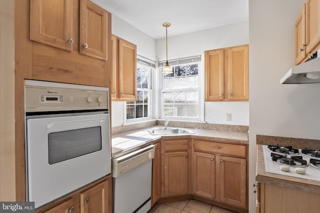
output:
{"label": "white wall oven control panel with digital display and two knobs", "polygon": [[26,80],[26,112],[108,109],[108,88]]}

